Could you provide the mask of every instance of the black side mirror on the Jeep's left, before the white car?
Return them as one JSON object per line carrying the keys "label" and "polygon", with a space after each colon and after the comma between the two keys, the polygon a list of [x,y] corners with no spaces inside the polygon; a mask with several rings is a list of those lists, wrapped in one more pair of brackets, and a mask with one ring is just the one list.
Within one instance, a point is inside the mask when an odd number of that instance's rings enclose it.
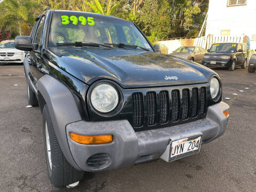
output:
{"label": "black side mirror on the Jeep's left, before the white car", "polygon": [[29,36],[18,36],[15,38],[15,48],[21,51],[33,51],[38,49],[38,44],[31,43]]}

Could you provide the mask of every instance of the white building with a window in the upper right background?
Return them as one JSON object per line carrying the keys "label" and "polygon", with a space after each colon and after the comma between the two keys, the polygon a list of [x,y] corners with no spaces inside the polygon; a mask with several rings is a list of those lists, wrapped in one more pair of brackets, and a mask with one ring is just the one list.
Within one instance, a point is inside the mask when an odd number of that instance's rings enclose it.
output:
{"label": "white building with a window in the upper right background", "polygon": [[210,0],[205,36],[246,35],[256,49],[255,15],[256,0]]}

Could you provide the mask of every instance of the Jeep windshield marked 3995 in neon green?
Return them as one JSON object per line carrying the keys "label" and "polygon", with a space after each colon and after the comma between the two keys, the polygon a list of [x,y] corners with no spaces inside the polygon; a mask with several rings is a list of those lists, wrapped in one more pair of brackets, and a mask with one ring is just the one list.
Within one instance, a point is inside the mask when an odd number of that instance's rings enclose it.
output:
{"label": "Jeep windshield marked 3995 in neon green", "polygon": [[[82,12],[54,13],[51,23],[49,47],[57,47],[59,44],[75,42],[98,44],[122,43],[137,45],[153,51],[147,40],[131,22]],[[134,50],[137,48],[138,50],[145,51],[139,47],[125,46],[124,49]],[[95,49],[95,47],[90,46],[88,49]]]}

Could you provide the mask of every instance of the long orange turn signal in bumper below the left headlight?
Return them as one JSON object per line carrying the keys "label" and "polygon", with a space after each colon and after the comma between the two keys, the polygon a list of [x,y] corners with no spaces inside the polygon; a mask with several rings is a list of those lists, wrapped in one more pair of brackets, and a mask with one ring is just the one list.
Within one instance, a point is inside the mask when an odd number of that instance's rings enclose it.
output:
{"label": "long orange turn signal in bumper below the left headlight", "polygon": [[109,143],[113,141],[112,135],[78,135],[70,133],[70,137],[75,142],[87,145]]}

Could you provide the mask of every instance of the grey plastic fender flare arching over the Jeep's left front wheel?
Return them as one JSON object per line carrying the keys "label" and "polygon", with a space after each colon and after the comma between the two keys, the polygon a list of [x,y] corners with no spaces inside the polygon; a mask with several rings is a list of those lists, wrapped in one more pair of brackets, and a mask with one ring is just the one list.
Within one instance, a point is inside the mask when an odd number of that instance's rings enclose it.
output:
{"label": "grey plastic fender flare arching over the Jeep's left front wheel", "polygon": [[50,75],[44,75],[38,80],[37,90],[49,109],[63,155],[75,169],[81,170],[70,153],[66,135],[67,124],[82,120],[73,94],[67,86]]}

